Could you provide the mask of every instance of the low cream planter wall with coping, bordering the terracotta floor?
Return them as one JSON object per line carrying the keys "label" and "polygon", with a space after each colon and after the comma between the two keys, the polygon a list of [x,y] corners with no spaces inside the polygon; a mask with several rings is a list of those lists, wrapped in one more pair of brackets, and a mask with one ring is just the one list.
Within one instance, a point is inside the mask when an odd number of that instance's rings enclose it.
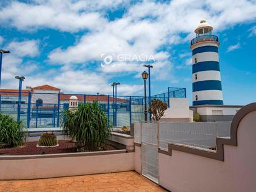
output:
{"label": "low cream planter wall with coping, bordering the terracotta floor", "polygon": [[[5,158],[5,159],[4,159]],[[65,153],[0,157],[0,180],[24,180],[134,170],[134,152]]]}

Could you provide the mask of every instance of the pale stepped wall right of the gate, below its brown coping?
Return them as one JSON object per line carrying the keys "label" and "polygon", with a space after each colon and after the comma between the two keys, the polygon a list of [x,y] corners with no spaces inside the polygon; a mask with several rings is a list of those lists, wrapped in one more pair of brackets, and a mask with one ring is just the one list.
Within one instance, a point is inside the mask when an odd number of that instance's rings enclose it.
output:
{"label": "pale stepped wall right of the gate, below its brown coping", "polygon": [[240,121],[238,146],[224,145],[224,162],[171,150],[159,153],[159,183],[170,191],[255,191],[256,111]]}

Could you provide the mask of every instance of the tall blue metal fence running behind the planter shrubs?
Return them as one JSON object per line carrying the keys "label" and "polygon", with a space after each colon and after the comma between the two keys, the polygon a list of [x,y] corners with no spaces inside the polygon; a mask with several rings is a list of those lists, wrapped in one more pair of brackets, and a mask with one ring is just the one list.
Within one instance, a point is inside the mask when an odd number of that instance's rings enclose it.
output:
{"label": "tall blue metal fence running behind the planter shrubs", "polygon": [[[170,93],[158,94],[152,96],[152,99],[162,99],[168,102],[168,94],[170,97],[173,95],[172,89],[169,88]],[[175,89],[175,91],[179,90]],[[28,128],[60,127],[63,121],[62,113],[68,109],[71,95],[78,97],[78,104],[99,99],[99,105],[106,113],[111,126],[129,126],[131,122],[143,121],[144,103],[147,103],[149,107],[149,97],[145,100],[143,96],[117,96],[117,102],[114,102],[116,98],[111,95],[22,92],[20,119]],[[18,92],[0,92],[0,96],[0,112],[17,119],[18,103],[16,97]],[[174,96],[181,96],[181,94],[175,92]],[[10,100],[10,98],[12,99]],[[37,99],[42,99],[42,103],[38,104]]]}

